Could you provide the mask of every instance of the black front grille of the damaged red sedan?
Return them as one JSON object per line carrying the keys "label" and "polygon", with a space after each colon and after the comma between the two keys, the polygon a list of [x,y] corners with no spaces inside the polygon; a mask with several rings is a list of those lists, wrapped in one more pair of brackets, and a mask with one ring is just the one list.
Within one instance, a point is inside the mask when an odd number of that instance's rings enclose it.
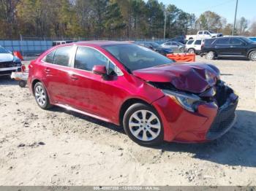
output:
{"label": "black front grille of the damaged red sedan", "polygon": [[214,122],[211,125],[211,128],[208,130],[206,139],[214,140],[222,136],[231,128],[233,122],[236,118],[236,106],[238,105],[238,98],[236,101],[226,101],[222,105],[217,113],[217,116],[214,119]]}

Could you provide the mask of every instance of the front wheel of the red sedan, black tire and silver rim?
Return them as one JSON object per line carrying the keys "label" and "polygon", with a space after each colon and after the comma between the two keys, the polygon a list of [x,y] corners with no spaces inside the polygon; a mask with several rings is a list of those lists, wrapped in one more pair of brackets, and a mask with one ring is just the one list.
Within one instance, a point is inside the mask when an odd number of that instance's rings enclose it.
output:
{"label": "front wheel of the red sedan, black tire and silver rim", "polygon": [[124,114],[124,131],[132,141],[151,147],[161,144],[164,130],[157,111],[146,104],[133,104]]}

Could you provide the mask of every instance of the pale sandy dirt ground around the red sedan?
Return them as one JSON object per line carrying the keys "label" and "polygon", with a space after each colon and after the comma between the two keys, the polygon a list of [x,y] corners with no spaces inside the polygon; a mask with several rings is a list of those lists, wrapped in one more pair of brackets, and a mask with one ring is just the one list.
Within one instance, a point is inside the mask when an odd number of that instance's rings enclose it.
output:
{"label": "pale sandy dirt ground around the red sedan", "polygon": [[0,184],[255,185],[256,63],[210,63],[240,95],[235,127],[211,143],[157,148],[138,146],[112,124],[39,109],[28,88],[1,78]]}

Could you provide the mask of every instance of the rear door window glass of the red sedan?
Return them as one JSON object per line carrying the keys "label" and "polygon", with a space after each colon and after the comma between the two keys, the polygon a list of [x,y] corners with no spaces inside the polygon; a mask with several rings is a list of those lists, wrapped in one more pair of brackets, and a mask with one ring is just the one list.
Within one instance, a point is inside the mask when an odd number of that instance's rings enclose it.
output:
{"label": "rear door window glass of the red sedan", "polygon": [[72,47],[60,47],[56,50],[53,63],[60,66],[69,66],[70,53]]}

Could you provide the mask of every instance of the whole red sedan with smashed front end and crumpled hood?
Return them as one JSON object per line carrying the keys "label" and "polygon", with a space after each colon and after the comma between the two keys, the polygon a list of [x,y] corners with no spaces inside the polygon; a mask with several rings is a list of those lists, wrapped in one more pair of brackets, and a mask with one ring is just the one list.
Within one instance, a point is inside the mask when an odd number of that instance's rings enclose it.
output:
{"label": "whole red sedan with smashed front end and crumpled hood", "polygon": [[129,42],[53,47],[29,65],[42,109],[63,108],[124,127],[144,146],[219,138],[235,122],[238,96],[206,63],[174,63]]}

